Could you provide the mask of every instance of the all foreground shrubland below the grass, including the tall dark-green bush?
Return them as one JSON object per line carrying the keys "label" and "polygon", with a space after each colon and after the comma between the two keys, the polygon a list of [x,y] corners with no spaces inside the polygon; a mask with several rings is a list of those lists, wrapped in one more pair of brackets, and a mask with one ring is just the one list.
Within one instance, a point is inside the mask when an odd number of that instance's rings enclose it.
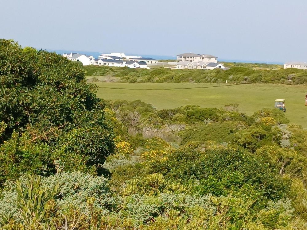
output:
{"label": "all foreground shrubland below the grass, including the tall dark-green bush", "polygon": [[0,40],[1,229],[306,229],[307,132],[280,110],[101,101]]}

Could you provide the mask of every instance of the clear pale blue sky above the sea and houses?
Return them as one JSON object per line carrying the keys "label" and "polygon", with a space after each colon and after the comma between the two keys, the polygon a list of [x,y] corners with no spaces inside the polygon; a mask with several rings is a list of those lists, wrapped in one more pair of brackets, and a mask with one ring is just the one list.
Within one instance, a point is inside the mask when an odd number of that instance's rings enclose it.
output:
{"label": "clear pale blue sky above the sea and houses", "polygon": [[53,50],[307,61],[306,0],[9,0],[0,38]]}

